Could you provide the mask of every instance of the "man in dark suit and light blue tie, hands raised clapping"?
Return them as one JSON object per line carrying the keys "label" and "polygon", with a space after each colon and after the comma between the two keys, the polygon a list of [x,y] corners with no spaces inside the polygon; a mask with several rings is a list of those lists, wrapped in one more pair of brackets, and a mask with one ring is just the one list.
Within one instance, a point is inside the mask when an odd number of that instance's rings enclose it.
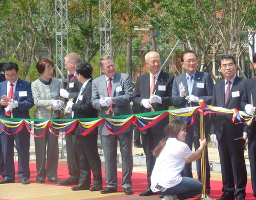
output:
{"label": "man in dark suit and light blue tie, hands raised clapping", "polygon": [[[212,100],[213,81],[209,73],[197,71],[197,57],[193,51],[185,51],[181,54],[181,66],[186,73],[174,78],[172,86],[172,103],[174,107],[185,108],[189,106],[198,106],[199,99],[203,99],[208,105]],[[210,132],[209,115],[204,116],[205,138],[207,141]],[[188,122],[189,123],[189,122]],[[187,137],[185,143],[192,149],[194,143],[195,150],[200,146],[200,118],[199,113],[196,116],[193,125],[187,127]],[[206,188],[207,194],[210,194],[210,164],[208,159],[207,147],[205,148],[206,160]],[[197,176],[201,180],[201,159],[196,161]],[[182,173],[185,177],[193,178],[191,163],[186,164]]]}

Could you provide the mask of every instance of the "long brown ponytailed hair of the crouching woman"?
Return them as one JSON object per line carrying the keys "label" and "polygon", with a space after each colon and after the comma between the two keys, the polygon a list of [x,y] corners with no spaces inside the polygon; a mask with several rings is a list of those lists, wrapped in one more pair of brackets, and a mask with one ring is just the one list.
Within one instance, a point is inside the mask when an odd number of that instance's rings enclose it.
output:
{"label": "long brown ponytailed hair of the crouching woman", "polygon": [[158,143],[156,148],[152,151],[152,155],[155,157],[158,157],[161,154],[162,150],[164,149],[167,139],[168,138],[176,138],[177,139],[178,133],[184,127],[186,127],[186,124],[183,121],[181,121],[180,119],[174,119],[172,122],[167,124],[164,127],[164,133],[166,134],[166,137],[163,138]]}

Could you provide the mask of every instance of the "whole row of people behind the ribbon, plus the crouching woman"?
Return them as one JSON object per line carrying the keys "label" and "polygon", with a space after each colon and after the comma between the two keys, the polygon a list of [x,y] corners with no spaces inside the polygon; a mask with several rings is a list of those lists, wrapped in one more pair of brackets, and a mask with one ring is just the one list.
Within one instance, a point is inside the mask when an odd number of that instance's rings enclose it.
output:
{"label": "whole row of people behind the ribbon, plus the crouching woman", "polygon": [[[48,59],[37,62],[40,74],[33,83],[19,78],[19,68],[14,62],[3,67],[6,81],[0,83],[1,118],[29,118],[28,110],[36,106],[35,119],[94,118],[133,114],[133,107],[139,113],[152,110],[168,110],[170,106],[186,108],[198,106],[200,99],[207,105],[227,109],[237,108],[253,116],[256,107],[256,79],[246,80],[236,74],[237,64],[232,55],[220,58],[219,70],[223,80],[213,84],[210,73],[197,70],[197,56],[193,51],[181,54],[184,74],[177,77],[161,70],[161,59],[157,52],[145,55],[148,73],[137,77],[133,90],[129,75],[118,73],[113,58],[105,55],[99,60],[104,73],[92,78],[93,68],[82,61],[77,53],[65,57],[69,72],[68,84],[63,88],[59,79],[53,77],[54,65]],[[256,68],[256,54],[253,56]],[[201,153],[205,150],[206,193],[210,195],[210,165],[207,154],[207,140],[218,143],[222,174],[222,196],[219,200],[243,200],[246,196],[247,172],[244,160],[244,144],[248,139],[249,160],[253,195],[256,197],[256,123],[251,125],[233,123],[232,114],[206,114],[204,121],[205,139],[199,137],[199,113],[194,123],[175,119],[169,122],[164,117],[155,126],[140,131],[142,147],[146,155],[147,187],[140,196],[159,194],[163,199],[185,199],[202,193]],[[35,122],[39,123],[39,122]],[[101,194],[117,192],[117,145],[122,156],[122,183],[126,195],[132,189],[132,141],[134,126],[123,132],[110,134],[102,123],[83,136],[79,125],[65,135],[67,142],[67,163],[69,178],[59,181],[57,169],[59,159],[58,133],[49,130],[43,134],[35,129],[36,181],[45,179],[59,185],[77,185],[71,189],[100,191]],[[97,139],[101,140],[105,157],[105,182],[103,188],[101,161]],[[237,138],[241,138],[235,140]],[[22,184],[29,184],[30,134],[24,127],[15,134],[0,130],[0,184],[15,182],[13,143],[18,152],[18,177]],[[192,151],[194,144],[194,153]],[[193,179],[191,162],[196,161],[197,179]],[[93,182],[91,184],[91,172]],[[189,188],[189,189],[188,189]]]}

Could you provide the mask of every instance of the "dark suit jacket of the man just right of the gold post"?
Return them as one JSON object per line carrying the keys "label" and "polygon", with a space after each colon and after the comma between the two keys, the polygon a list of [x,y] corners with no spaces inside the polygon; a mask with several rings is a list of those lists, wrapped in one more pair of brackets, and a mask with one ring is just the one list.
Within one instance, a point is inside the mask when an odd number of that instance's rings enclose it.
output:
{"label": "dark suit jacket of the man just right of the gold post", "polygon": [[[225,79],[213,86],[212,106],[227,109],[237,108],[241,110],[241,99],[243,95],[245,79],[236,76],[231,87],[230,94],[225,104]],[[226,134],[230,140],[243,136],[243,124],[234,124],[233,114],[212,114],[211,115],[211,134],[216,134],[217,140],[221,140],[223,127],[226,127]]]}

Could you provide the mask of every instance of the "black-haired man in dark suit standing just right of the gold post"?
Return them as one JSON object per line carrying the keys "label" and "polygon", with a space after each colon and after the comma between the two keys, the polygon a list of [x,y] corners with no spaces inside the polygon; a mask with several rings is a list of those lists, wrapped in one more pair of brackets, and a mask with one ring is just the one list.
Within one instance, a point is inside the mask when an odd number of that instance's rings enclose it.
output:
{"label": "black-haired man in dark suit standing just right of the gold post", "polygon": [[[225,79],[213,86],[212,106],[241,110],[245,79],[236,75],[236,60],[232,55],[220,58],[220,72]],[[233,114],[212,114],[211,140],[217,143],[220,155],[222,191],[218,200],[245,199],[247,173],[244,161],[244,143],[234,140],[243,136],[243,124],[234,124]]]}

